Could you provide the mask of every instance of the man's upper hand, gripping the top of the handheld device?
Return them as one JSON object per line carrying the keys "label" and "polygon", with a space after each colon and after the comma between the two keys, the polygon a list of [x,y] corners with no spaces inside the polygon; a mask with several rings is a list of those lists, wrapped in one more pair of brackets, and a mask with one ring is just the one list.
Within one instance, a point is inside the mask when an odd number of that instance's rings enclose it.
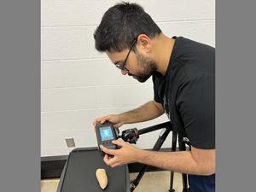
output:
{"label": "man's upper hand, gripping the top of the handheld device", "polygon": [[97,118],[93,121],[92,125],[94,127],[94,130],[96,128],[96,123],[103,124],[106,121],[112,123],[114,128],[119,128],[120,126],[124,125],[124,122],[121,119],[120,115],[118,115],[118,114],[109,114],[107,116]]}

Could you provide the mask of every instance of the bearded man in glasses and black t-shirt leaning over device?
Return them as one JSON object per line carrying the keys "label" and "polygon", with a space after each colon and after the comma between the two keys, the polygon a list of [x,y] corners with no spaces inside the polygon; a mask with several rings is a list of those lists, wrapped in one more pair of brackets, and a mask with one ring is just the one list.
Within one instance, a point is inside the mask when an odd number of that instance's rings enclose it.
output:
{"label": "bearded man in glasses and black t-shirt leaning over device", "polygon": [[[94,120],[115,127],[166,113],[190,151],[154,152],[117,140],[117,150],[101,147],[108,166],[139,162],[189,174],[190,192],[215,190],[215,49],[183,37],[168,38],[136,3],[108,9],[94,34],[96,49],[106,52],[123,75],[139,82],[152,76],[154,100],[134,110]],[[107,155],[110,154],[110,155]]]}

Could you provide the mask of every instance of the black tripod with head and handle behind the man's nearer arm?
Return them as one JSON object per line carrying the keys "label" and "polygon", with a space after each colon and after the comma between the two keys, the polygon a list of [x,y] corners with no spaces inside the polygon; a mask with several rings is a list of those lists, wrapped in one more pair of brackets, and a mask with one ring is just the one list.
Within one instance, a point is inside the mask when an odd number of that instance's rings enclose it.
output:
{"label": "black tripod with head and handle behind the man's nearer arm", "polygon": [[[137,139],[139,138],[139,135],[143,135],[145,133],[156,131],[165,128],[164,131],[160,133],[160,136],[156,143],[154,144],[153,150],[158,151],[160,150],[163,143],[166,141],[166,137],[169,135],[170,131],[172,131],[172,151],[176,151],[176,143],[177,143],[177,132],[172,130],[172,124],[170,122],[162,123],[159,125],[153,125],[144,129],[137,130],[137,128],[134,129],[128,129],[125,131],[122,131],[121,137],[125,142],[129,143],[137,143]],[[178,138],[178,146],[179,150],[186,150],[186,143],[183,141],[183,137]],[[131,180],[131,192],[137,187],[138,183],[142,179],[144,173],[148,170],[148,166],[144,165],[141,171],[138,173],[136,179]],[[171,171],[171,181],[170,181],[170,189],[169,192],[174,192],[175,189],[173,189],[173,177],[174,172]],[[183,192],[188,191],[188,177],[187,174],[182,174],[183,177]]]}

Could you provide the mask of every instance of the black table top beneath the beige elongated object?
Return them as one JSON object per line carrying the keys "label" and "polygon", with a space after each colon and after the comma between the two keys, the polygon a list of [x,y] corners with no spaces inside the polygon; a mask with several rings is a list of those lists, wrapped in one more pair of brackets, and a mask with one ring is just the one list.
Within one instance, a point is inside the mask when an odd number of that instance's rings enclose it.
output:
{"label": "black table top beneath the beige elongated object", "polygon": [[[130,177],[127,166],[112,168],[103,162],[97,148],[78,148],[68,157],[59,183],[61,192],[128,192]],[[108,186],[101,189],[96,180],[96,169],[107,172]]]}

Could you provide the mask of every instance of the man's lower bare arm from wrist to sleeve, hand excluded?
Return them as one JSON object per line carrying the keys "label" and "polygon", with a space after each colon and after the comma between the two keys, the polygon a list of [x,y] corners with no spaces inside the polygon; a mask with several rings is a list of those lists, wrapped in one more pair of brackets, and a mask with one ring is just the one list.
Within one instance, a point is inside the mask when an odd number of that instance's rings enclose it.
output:
{"label": "man's lower bare arm from wrist to sleeve, hand excluded", "polygon": [[191,148],[191,151],[154,152],[142,150],[137,161],[165,170],[195,175],[212,175],[215,172],[215,149]]}

